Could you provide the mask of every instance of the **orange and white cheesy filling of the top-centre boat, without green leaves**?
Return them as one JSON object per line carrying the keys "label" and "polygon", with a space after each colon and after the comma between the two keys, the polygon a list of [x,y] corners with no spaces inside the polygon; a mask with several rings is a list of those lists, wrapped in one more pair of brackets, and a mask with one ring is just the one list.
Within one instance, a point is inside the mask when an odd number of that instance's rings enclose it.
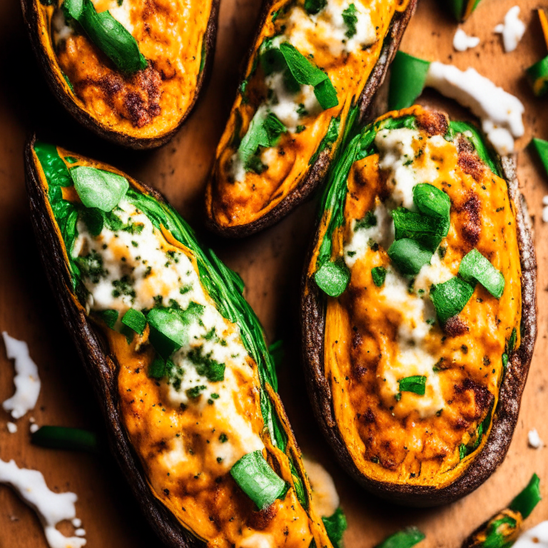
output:
{"label": "orange and white cheesy filling of the top-centre boat, without green leaves", "polygon": [[[303,4],[276,2],[255,42],[255,55],[246,73],[245,99],[238,93],[206,191],[208,214],[221,226],[253,222],[298,187],[308,175],[310,158],[320,147],[330,120],[340,117],[340,127],[344,127],[352,100],[357,100],[377,63],[395,11],[405,9],[407,3],[328,0],[315,15],[308,14]],[[349,32],[343,16],[350,4],[355,6],[355,34]],[[328,73],[337,91],[338,106],[324,111],[311,86],[290,93],[283,86],[281,73],[265,77],[260,64],[254,68],[261,44],[272,37],[274,45],[289,42]],[[275,147],[263,151],[260,160],[265,169],[260,174],[245,170],[234,142],[235,133],[244,136],[248,131],[258,109],[275,113],[288,128]]]}

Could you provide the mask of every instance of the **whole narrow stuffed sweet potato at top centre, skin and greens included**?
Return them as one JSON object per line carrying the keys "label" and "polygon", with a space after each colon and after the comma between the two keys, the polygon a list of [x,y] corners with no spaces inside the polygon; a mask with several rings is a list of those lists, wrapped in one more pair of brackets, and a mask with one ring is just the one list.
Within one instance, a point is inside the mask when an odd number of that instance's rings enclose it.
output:
{"label": "whole narrow stuffed sweet potato at top centre, skin and greens included", "polygon": [[[416,0],[278,0],[265,5],[217,147],[210,228],[272,225],[322,181],[351,107],[365,113]],[[350,116],[351,117],[351,116]]]}

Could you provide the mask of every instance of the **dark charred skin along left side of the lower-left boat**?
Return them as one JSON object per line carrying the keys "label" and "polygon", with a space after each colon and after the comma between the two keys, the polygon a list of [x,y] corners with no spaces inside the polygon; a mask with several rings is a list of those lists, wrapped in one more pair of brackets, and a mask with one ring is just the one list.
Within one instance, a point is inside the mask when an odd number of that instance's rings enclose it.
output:
{"label": "dark charred skin along left side of the lower-left boat", "polygon": [[[107,424],[111,454],[121,468],[128,486],[140,504],[143,514],[161,542],[168,548],[204,548],[205,543],[193,537],[173,514],[159,501],[148,484],[146,473],[133,450],[121,421],[117,372],[118,362],[108,353],[106,339],[93,326],[72,298],[71,277],[66,267],[63,247],[57,238],[54,220],[48,212],[48,198],[41,186],[33,158],[34,136],[26,143],[25,178],[29,195],[31,222],[36,239],[41,243],[40,255],[46,276],[56,295],[61,317],[80,355],[88,380],[91,382],[103,419]],[[133,179],[128,178],[131,186]],[[159,201],[159,193],[143,185],[146,193]]]}

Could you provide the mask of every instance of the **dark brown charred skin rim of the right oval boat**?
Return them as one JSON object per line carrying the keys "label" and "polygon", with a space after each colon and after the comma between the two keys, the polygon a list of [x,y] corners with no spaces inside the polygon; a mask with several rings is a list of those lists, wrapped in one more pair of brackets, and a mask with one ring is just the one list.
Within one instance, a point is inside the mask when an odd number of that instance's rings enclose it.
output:
{"label": "dark brown charred skin rim of the right oval boat", "polygon": [[[519,193],[516,161],[513,156],[502,158],[502,169],[507,181],[508,194],[516,205],[517,240],[522,267],[522,322],[521,343],[509,356],[508,367],[499,389],[499,401],[492,420],[492,428],[482,450],[460,477],[447,487],[401,485],[372,480],[360,472],[348,452],[338,428],[333,409],[333,395],[324,369],[324,331],[327,301],[313,278],[308,266],[318,243],[319,230],[308,252],[301,283],[302,354],[308,395],[316,420],[342,467],[368,491],[393,502],[413,507],[432,507],[453,502],[480,487],[502,463],[512,440],[517,423],[522,392],[531,363],[534,341],[537,338],[537,260],[532,242],[532,225],[527,207]],[[319,225],[318,225],[319,226]]]}

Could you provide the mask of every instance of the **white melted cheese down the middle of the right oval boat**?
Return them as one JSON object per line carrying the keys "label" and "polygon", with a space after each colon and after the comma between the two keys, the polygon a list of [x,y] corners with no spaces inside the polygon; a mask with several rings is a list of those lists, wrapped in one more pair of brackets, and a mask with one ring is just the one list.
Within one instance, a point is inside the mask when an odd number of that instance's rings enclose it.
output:
{"label": "white melted cheese down the middle of the right oval boat", "polygon": [[[453,146],[442,136],[432,136],[420,141],[420,133],[410,128],[383,129],[375,137],[379,150],[379,167],[387,173],[387,187],[390,198],[382,203],[375,199],[373,213],[377,221],[370,228],[356,228],[357,220],[352,220],[350,240],[344,248],[345,263],[352,268],[364,258],[370,243],[378,243],[385,250],[394,241],[394,222],[390,212],[403,206],[416,210],[413,202],[413,187],[417,183],[428,183],[437,178],[436,164],[433,157],[439,155],[440,148]],[[417,146],[424,148],[424,165],[414,165]],[[350,253],[350,254],[349,254]],[[455,267],[455,265],[452,265]],[[417,274],[410,291],[410,279],[387,269],[386,279],[380,295],[385,299],[385,306],[402,314],[402,323],[397,333],[398,352],[395,360],[386,364],[377,372],[380,392],[387,405],[394,406],[395,415],[407,415],[410,408],[417,410],[421,417],[429,417],[442,409],[445,400],[440,381],[432,367],[440,359],[425,349],[425,338],[430,333],[436,314],[430,300],[432,284],[443,283],[453,274],[447,265],[434,253],[430,264],[424,265]],[[412,375],[427,377],[425,395],[403,392],[401,400],[394,405],[394,396],[399,392],[399,380]]]}

